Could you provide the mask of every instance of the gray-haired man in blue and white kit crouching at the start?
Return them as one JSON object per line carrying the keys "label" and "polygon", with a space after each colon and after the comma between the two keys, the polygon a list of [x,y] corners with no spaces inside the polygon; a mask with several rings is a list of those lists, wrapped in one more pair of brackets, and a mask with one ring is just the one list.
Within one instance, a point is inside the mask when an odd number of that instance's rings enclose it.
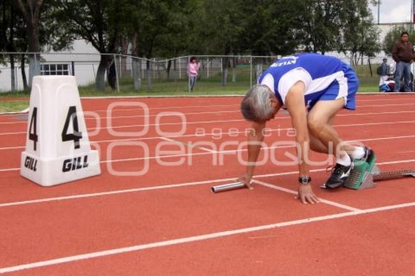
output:
{"label": "gray-haired man in blue and white kit crouching at the start", "polygon": [[[241,102],[241,112],[252,121],[248,135],[246,172],[239,177],[249,188],[261,146],[266,122],[285,105],[296,130],[299,161],[298,195],[303,203],[317,203],[311,189],[310,166],[305,153],[311,150],[328,154],[332,146],[336,166],[326,181],[326,188],[343,186],[353,169],[353,159],[374,163],[373,150],[344,143],[332,127],[341,109],[355,109],[359,81],[353,69],[341,60],[318,54],[300,54],[279,59],[260,77]],[[305,106],[308,107],[308,114]]]}

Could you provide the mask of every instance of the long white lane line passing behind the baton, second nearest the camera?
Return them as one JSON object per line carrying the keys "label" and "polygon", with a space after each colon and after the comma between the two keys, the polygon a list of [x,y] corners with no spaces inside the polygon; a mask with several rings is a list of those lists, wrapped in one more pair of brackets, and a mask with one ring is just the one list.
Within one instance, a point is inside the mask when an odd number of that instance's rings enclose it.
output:
{"label": "long white lane line passing behind the baton, second nearest the camera", "polygon": [[[382,163],[376,163],[376,164],[377,165],[385,165],[385,164],[412,163],[412,162],[415,162],[415,159],[389,161],[389,162],[382,162]],[[326,169],[310,170],[310,172],[312,172],[312,173],[322,172],[322,171],[326,171]],[[277,177],[277,176],[287,176],[287,175],[294,175],[294,174],[298,174],[298,171],[285,172],[285,173],[275,173],[275,174],[265,174],[265,175],[256,175],[256,176],[253,176],[253,178],[256,179],[256,178],[264,178],[264,177]],[[41,198],[41,199],[6,202],[6,203],[0,203],[0,208],[1,207],[15,206],[15,205],[27,205],[27,204],[33,204],[33,203],[59,201],[59,200],[66,200],[66,199],[76,199],[76,198],[85,198],[85,197],[101,197],[101,196],[115,195],[115,194],[125,194],[125,193],[141,192],[141,191],[152,191],[152,190],[159,190],[159,189],[177,188],[177,187],[192,186],[192,185],[207,184],[207,183],[228,182],[228,181],[233,181],[234,182],[235,179],[236,179],[236,177],[223,178],[223,179],[212,179],[212,180],[187,182],[187,183],[179,183],[179,184],[170,184],[170,185],[162,185],[162,186],[150,186],[150,187],[143,187],[143,188],[115,190],[115,191],[92,193],[92,194],[81,194],[81,195],[72,195],[72,196],[63,196],[63,197],[47,197],[47,198]]]}

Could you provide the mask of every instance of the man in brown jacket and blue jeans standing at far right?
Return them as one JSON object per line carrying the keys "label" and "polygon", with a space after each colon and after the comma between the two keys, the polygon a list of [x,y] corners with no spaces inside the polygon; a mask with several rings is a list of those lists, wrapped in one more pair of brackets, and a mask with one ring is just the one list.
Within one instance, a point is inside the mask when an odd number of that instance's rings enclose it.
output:
{"label": "man in brown jacket and blue jeans standing at far right", "polygon": [[399,92],[402,76],[405,84],[404,91],[409,92],[412,90],[409,83],[411,82],[411,63],[414,57],[414,47],[409,42],[409,34],[403,32],[400,40],[395,42],[394,48],[392,49],[392,58],[396,62],[394,92]]}

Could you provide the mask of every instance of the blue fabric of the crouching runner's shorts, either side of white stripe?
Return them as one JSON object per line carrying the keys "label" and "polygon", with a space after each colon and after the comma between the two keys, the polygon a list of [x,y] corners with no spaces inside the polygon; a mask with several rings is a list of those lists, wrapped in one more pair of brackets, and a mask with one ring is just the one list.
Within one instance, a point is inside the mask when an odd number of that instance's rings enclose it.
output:
{"label": "blue fabric of the crouching runner's shorts, either side of white stripe", "polygon": [[[343,72],[345,78],[347,78],[347,96],[345,100],[344,108],[355,110],[356,109],[356,93],[359,88],[359,79],[357,79],[356,73],[354,70],[347,64],[343,65]],[[329,87],[322,91],[321,96],[311,101],[308,105],[309,110],[317,103],[319,100],[335,100],[339,99],[340,86],[337,80],[334,80]]]}

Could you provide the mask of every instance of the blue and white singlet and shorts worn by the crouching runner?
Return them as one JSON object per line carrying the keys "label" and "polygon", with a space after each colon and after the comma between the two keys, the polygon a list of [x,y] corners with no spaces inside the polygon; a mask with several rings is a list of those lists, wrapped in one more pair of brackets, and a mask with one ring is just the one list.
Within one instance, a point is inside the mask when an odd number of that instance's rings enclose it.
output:
{"label": "blue and white singlet and shorts worn by the crouching runner", "polygon": [[299,54],[273,63],[259,78],[277,99],[285,104],[290,88],[297,82],[305,84],[305,103],[309,109],[319,100],[345,99],[345,108],[355,109],[355,94],[359,82],[353,69],[340,59],[319,55]]}

